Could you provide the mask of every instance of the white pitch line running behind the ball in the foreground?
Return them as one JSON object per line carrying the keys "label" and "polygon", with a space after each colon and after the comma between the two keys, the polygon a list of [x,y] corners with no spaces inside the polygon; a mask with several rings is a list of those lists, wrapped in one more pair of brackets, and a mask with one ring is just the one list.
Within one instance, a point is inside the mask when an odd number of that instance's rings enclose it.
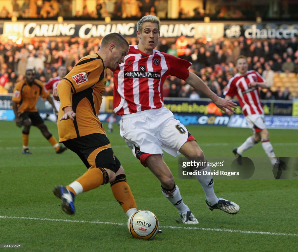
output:
{"label": "white pitch line running behind the ball in the foreground", "polygon": [[[48,218],[32,218],[32,217],[13,217],[13,216],[1,216],[0,219],[21,219],[21,220],[47,220],[47,221],[61,221],[72,223],[91,223],[91,224],[111,224],[111,225],[126,225],[117,222],[103,222],[95,220],[63,220],[63,219],[48,219]],[[177,226],[159,226],[162,229],[188,229],[188,230],[202,230],[202,231],[217,231],[217,232],[230,232],[230,233],[242,233],[242,234],[268,234],[279,236],[294,236],[298,237],[298,234],[286,234],[286,233],[271,233],[261,231],[245,231],[245,230],[232,230],[232,229],[216,229],[216,228],[196,228],[196,227],[177,227]]]}

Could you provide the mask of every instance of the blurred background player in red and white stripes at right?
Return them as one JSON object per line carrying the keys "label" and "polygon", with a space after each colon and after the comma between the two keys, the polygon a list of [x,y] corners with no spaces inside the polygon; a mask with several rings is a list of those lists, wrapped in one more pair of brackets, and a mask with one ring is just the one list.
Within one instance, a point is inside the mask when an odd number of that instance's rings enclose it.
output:
{"label": "blurred background player in red and white stripes at right", "polygon": [[[246,122],[253,130],[254,135],[238,148],[233,149],[235,156],[241,157],[242,153],[262,141],[262,147],[274,166],[276,163],[269,133],[264,122],[264,111],[260,100],[260,88],[267,88],[266,81],[255,70],[248,71],[248,63],[245,56],[240,55],[236,60],[238,73],[229,80],[224,92],[225,98],[231,100],[235,95],[245,116]],[[232,114],[226,110],[227,114]]]}

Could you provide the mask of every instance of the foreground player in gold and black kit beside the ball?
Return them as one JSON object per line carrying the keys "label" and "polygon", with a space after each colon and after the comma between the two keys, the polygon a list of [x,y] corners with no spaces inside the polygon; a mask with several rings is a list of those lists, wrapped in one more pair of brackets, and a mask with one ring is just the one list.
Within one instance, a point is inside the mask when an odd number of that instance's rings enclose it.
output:
{"label": "foreground player in gold and black kit beside the ball", "polygon": [[128,217],[137,210],[124,169],[98,119],[107,68],[114,70],[124,62],[128,48],[128,42],[122,35],[106,35],[99,51],[80,59],[53,91],[55,99],[61,102],[57,124],[59,141],[75,152],[88,168],[71,184],[66,187],[60,185],[53,190],[67,214],[75,213],[75,196],[108,182]]}

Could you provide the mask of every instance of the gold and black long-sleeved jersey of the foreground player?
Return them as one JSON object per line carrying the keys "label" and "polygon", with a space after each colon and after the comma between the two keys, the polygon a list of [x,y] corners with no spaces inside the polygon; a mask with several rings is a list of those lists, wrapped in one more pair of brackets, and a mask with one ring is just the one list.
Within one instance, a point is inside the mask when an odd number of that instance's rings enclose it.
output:
{"label": "gold and black long-sleeved jersey of the foreground player", "polygon": [[63,108],[72,106],[75,120],[58,120],[59,141],[86,136],[93,133],[105,134],[98,119],[103,92],[107,81],[107,70],[103,60],[95,53],[80,59],[57,86],[60,109],[58,118],[64,115]]}

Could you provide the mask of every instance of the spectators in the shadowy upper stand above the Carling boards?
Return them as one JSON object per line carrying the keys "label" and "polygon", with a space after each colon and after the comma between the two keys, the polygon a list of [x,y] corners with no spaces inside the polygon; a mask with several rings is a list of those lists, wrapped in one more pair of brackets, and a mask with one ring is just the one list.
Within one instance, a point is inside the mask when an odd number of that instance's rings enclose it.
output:
{"label": "spectators in the shadowy upper stand above the Carling boards", "polygon": [[[76,1],[80,1],[79,4]],[[81,18],[100,19],[107,16],[113,19],[140,18],[153,14],[159,18],[168,18],[168,0],[96,0],[94,4],[86,0],[12,0],[11,6],[1,6],[0,18]],[[260,1],[256,5],[251,1],[198,1],[192,8],[186,8],[185,1],[179,1],[180,19],[200,19],[209,16],[212,20],[253,19],[256,17],[267,18],[294,18],[297,17],[288,1],[272,1],[269,6]],[[73,6],[76,5],[76,6]],[[77,10],[77,6],[80,6]],[[204,6],[204,8],[203,8]]]}

